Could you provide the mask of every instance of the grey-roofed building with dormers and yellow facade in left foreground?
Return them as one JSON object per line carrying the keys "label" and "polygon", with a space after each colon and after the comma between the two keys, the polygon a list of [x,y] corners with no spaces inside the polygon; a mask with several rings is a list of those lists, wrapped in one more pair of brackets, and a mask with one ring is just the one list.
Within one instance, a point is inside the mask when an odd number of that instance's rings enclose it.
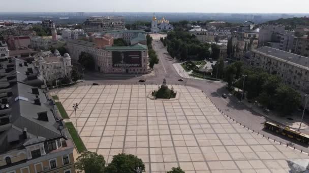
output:
{"label": "grey-roofed building with dormers and yellow facade in left foreground", "polygon": [[75,172],[74,144],[42,76],[21,59],[0,64],[0,172]]}

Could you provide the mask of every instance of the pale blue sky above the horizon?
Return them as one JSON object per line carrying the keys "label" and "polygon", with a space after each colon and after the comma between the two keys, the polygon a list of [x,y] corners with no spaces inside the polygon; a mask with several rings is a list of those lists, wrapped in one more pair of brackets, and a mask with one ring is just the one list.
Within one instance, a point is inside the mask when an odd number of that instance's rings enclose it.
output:
{"label": "pale blue sky above the horizon", "polygon": [[309,0],[0,0],[0,12],[309,13]]}

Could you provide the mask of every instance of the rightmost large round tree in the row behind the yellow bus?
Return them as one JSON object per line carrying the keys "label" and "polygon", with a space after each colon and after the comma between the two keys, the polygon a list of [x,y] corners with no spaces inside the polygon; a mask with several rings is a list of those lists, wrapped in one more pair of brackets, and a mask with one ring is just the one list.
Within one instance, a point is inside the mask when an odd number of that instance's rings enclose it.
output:
{"label": "rightmost large round tree in the row behind the yellow bus", "polygon": [[290,86],[280,85],[276,89],[275,108],[277,111],[290,114],[300,105],[300,94]]}

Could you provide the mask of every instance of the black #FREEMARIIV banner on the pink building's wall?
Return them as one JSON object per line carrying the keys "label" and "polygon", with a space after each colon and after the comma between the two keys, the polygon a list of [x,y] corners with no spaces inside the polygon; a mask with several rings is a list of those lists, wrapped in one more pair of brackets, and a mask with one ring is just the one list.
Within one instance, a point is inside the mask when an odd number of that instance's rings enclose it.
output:
{"label": "black #FREEMARIIV banner on the pink building's wall", "polygon": [[141,67],[142,52],[112,52],[113,67]]}

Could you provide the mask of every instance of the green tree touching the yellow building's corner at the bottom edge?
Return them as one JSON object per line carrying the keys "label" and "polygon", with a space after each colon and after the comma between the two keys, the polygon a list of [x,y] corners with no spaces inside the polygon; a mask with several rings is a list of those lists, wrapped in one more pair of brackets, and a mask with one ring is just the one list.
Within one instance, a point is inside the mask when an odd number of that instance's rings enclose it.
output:
{"label": "green tree touching the yellow building's corner at the bottom edge", "polygon": [[78,173],[104,173],[105,160],[102,155],[87,151],[77,158],[75,167]]}

